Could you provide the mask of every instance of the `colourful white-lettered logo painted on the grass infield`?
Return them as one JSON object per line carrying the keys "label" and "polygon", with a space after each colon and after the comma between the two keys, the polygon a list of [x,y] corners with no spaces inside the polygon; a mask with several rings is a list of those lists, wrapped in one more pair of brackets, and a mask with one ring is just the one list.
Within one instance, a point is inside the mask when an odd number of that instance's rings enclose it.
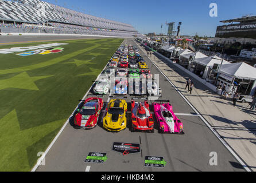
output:
{"label": "colourful white-lettered logo painted on the grass infield", "polygon": [[28,56],[34,54],[50,54],[50,53],[60,53],[64,50],[63,47],[56,47],[61,45],[68,45],[68,43],[49,43],[49,44],[42,44],[36,46],[25,46],[25,47],[11,47],[9,49],[0,49],[0,54],[9,54],[15,52],[24,52],[18,53],[17,55],[21,56]]}

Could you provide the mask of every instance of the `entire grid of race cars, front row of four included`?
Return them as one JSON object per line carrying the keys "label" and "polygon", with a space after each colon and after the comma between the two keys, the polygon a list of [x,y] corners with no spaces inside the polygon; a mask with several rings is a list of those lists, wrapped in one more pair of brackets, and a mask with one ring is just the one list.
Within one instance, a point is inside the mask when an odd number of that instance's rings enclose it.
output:
{"label": "entire grid of race cars, front row of four included", "polygon": [[[115,64],[114,64],[115,62]],[[126,62],[126,63],[125,63]],[[142,64],[143,63],[143,64]],[[137,66],[136,66],[137,65]],[[148,69],[148,65],[139,54],[137,47],[133,45],[120,46],[115,52],[111,61],[108,64],[108,69],[103,71],[105,74],[100,76],[94,86],[95,94],[107,94],[113,84],[113,94],[127,94],[127,75],[130,67],[129,78],[136,78],[137,81],[129,82],[131,94],[142,96],[161,96],[161,89],[157,83],[153,81],[153,76]],[[120,67],[115,73],[114,67]],[[137,68],[142,68],[140,71]],[[145,68],[144,68],[145,67]],[[115,77],[113,77],[113,75]],[[114,78],[114,82],[110,82]],[[147,92],[142,93],[142,81],[148,81]],[[150,83],[150,84],[149,84]],[[138,90],[138,91],[137,91]],[[137,92],[137,93],[136,93]],[[130,94],[130,92],[129,92]],[[103,110],[104,101],[100,97],[91,97],[83,101],[83,104],[77,109],[74,117],[74,126],[77,129],[92,129],[95,128],[99,120],[100,112]],[[183,123],[173,113],[172,105],[169,103],[152,104],[154,116],[158,123],[158,132],[160,133],[183,133]],[[119,132],[126,129],[127,125],[127,102],[124,99],[116,98],[110,100],[106,106],[106,113],[103,117],[103,128],[110,132]],[[148,100],[143,102],[131,100],[131,132],[134,131],[154,132],[154,118],[150,112]]]}

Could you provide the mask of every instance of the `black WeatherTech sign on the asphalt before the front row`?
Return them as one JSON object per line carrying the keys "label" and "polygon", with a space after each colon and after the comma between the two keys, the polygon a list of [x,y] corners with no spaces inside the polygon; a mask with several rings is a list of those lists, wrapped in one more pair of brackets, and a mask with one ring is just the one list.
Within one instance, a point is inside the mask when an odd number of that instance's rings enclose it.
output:
{"label": "black WeatherTech sign on the asphalt before the front row", "polygon": [[112,150],[123,153],[123,155],[141,152],[139,144],[114,142]]}

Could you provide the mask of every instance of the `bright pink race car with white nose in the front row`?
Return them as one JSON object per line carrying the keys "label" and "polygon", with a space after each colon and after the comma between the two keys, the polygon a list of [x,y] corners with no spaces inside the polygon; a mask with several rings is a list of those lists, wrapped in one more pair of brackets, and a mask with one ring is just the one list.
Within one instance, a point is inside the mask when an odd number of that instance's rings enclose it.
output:
{"label": "bright pink race car with white nose in the front row", "polygon": [[170,105],[170,103],[153,103],[153,106],[154,114],[156,116],[157,122],[159,123],[160,133],[184,134],[183,123],[173,113],[172,105]]}

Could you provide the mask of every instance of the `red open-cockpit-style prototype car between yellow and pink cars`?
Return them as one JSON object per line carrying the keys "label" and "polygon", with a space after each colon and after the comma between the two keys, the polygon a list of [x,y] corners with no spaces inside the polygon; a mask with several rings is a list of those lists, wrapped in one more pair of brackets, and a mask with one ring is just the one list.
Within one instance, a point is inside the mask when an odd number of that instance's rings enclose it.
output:
{"label": "red open-cockpit-style prototype car between yellow and pink cars", "polygon": [[149,131],[154,133],[153,116],[149,110],[149,102],[131,101],[131,132],[135,130]]}

